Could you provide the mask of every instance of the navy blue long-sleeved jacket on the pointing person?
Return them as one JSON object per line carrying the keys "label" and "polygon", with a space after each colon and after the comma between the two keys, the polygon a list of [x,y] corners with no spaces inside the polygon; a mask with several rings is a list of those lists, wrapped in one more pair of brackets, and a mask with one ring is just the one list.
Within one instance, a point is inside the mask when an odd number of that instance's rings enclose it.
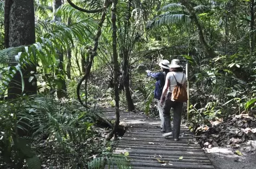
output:
{"label": "navy blue long-sleeved jacket on the pointing person", "polygon": [[163,72],[158,72],[158,73],[152,73],[149,72],[148,76],[153,77],[154,79],[156,79],[156,86],[155,86],[155,90],[154,90],[154,98],[157,100],[161,99],[162,96],[162,92],[163,92],[163,88],[164,88],[164,76],[165,73]]}

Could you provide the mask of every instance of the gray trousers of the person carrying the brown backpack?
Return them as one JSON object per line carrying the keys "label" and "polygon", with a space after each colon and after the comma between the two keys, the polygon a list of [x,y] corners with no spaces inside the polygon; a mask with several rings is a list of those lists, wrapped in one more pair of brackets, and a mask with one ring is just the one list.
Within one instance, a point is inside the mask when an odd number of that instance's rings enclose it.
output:
{"label": "gray trousers of the person carrying the brown backpack", "polygon": [[164,122],[163,122],[163,131],[166,133],[171,132],[171,120],[170,120],[170,111],[171,108],[174,108],[174,129],[172,131],[174,139],[178,139],[181,131],[181,115],[183,109],[183,102],[171,101],[171,93],[168,92],[164,101]]}

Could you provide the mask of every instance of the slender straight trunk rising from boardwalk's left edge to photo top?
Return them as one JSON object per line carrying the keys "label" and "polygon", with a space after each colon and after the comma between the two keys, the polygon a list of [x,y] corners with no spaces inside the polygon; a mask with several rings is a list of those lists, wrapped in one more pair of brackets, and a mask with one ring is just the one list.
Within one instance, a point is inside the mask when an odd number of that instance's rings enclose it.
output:
{"label": "slender straight trunk rising from boardwalk's left edge to photo top", "polygon": [[119,65],[118,65],[118,55],[117,55],[117,25],[116,25],[116,13],[117,13],[117,2],[118,0],[113,0],[112,3],[112,48],[113,48],[113,66],[114,66],[114,100],[116,101],[116,121],[114,122],[114,128],[108,134],[106,140],[110,140],[113,135],[117,132],[119,122],[120,122],[120,114],[119,114],[119,91],[118,91],[118,71],[119,71]]}

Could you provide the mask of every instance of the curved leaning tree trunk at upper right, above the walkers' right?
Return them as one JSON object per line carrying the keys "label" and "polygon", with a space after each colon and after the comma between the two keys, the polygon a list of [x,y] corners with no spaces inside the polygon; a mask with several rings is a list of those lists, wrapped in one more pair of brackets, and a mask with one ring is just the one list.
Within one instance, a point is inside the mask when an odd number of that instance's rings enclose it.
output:
{"label": "curved leaning tree trunk at upper right, above the walkers' right", "polygon": [[188,9],[191,18],[194,20],[196,27],[197,27],[198,34],[199,34],[199,41],[202,44],[204,50],[206,51],[206,53],[208,54],[209,57],[215,57],[216,54],[215,54],[213,48],[209,46],[209,44],[206,42],[206,40],[204,38],[201,24],[199,23],[199,20],[195,14],[194,9],[191,7],[191,5],[189,4],[189,2],[187,0],[181,0],[181,4],[183,6],[185,6],[185,8]]}

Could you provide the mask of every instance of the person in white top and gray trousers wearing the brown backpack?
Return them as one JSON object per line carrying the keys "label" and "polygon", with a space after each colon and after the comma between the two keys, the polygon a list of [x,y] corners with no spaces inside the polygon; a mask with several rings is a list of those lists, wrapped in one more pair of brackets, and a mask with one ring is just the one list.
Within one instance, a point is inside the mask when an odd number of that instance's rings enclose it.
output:
{"label": "person in white top and gray trousers wearing the brown backpack", "polygon": [[[167,74],[165,85],[163,88],[163,93],[161,96],[160,104],[163,105],[163,134],[164,137],[168,137],[173,135],[175,141],[178,141],[180,137],[180,129],[181,129],[181,118],[182,118],[182,109],[183,109],[183,102],[176,102],[171,100],[171,93],[172,90],[177,85],[177,82],[181,83],[183,87],[187,88],[187,78],[183,73],[183,68],[180,66],[180,61],[174,59],[171,61],[171,64],[168,65],[170,67],[170,72]],[[167,95],[166,95],[167,94]],[[174,108],[174,128],[171,132],[171,121],[170,121],[170,111],[171,108]]]}

